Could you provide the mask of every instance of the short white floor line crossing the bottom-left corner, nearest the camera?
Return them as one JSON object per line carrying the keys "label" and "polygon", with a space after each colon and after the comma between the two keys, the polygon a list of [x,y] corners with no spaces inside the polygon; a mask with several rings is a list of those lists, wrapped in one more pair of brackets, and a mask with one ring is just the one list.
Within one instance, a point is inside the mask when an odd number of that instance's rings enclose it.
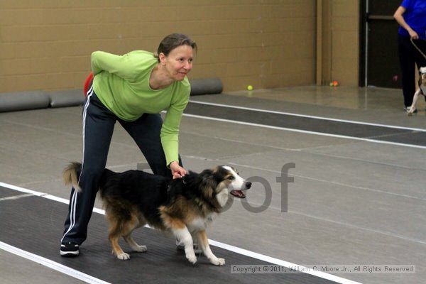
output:
{"label": "short white floor line crossing the bottom-left corner, nearest the camera", "polygon": [[[22,249],[18,249],[15,246],[10,246],[9,244],[5,244],[2,241],[0,241],[0,249],[2,249],[4,251],[8,251],[9,253],[13,253],[16,256],[21,256],[21,257],[26,258],[30,261],[34,261],[35,263],[40,263],[42,266],[52,268],[55,271],[58,271],[60,273],[64,273],[66,275],[70,275],[71,277],[77,278],[78,280],[82,280],[86,283],[109,284],[108,282],[105,282],[104,280],[100,280],[100,279],[94,278],[94,277],[92,277],[92,276],[90,276],[86,273],[76,271],[75,269],[69,268],[69,267],[64,266],[60,263],[57,263],[55,261],[51,261],[48,258],[43,258],[42,256],[38,256],[34,253],[29,253],[28,251],[23,251]],[[59,251],[58,251],[58,253],[59,253]],[[31,280],[29,282],[31,282]]]}

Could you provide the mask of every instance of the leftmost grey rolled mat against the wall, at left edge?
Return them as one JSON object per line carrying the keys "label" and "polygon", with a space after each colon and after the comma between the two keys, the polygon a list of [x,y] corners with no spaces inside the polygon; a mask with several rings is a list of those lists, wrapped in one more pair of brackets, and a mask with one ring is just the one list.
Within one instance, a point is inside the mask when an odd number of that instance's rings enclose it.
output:
{"label": "leftmost grey rolled mat against the wall, at left edge", "polygon": [[50,97],[43,91],[14,92],[0,94],[0,112],[49,107]]}

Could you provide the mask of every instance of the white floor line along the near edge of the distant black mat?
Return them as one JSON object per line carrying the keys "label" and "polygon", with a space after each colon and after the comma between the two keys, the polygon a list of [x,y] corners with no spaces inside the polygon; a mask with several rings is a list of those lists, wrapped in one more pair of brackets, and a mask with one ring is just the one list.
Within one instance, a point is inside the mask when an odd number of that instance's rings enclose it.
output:
{"label": "white floor line along the near edge of the distant black mat", "polygon": [[[381,140],[376,140],[376,139],[371,139],[371,138],[359,138],[359,137],[354,137],[354,136],[344,136],[344,135],[329,134],[329,133],[322,133],[322,132],[316,132],[316,131],[306,131],[306,130],[300,130],[300,129],[288,129],[286,127],[270,126],[270,125],[266,125],[266,124],[252,124],[250,122],[236,121],[236,120],[231,120],[231,119],[217,119],[215,117],[210,117],[210,116],[200,116],[200,115],[185,114],[185,113],[183,114],[183,116],[195,117],[197,119],[208,119],[208,120],[214,120],[214,121],[230,122],[232,124],[243,124],[243,125],[249,125],[249,126],[258,126],[258,127],[263,127],[263,128],[266,128],[266,129],[277,129],[277,130],[293,131],[293,132],[299,132],[299,133],[314,134],[314,135],[320,135],[320,136],[328,136],[328,137],[333,137],[333,138],[344,138],[344,139],[365,141],[365,142],[371,142],[371,143],[388,144],[388,145],[393,145],[393,146],[403,146],[403,147],[410,147],[410,148],[426,149],[426,146],[419,146],[419,145],[413,145],[413,144],[396,143],[396,142],[381,141]],[[425,131],[425,130],[422,130],[422,131]]]}

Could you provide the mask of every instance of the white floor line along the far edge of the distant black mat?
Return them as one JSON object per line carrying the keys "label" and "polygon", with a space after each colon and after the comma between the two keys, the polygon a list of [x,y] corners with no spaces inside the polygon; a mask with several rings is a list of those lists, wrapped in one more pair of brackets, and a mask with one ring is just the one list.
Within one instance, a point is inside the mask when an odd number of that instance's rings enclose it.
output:
{"label": "white floor line along the far edge of the distant black mat", "polygon": [[190,102],[192,102],[194,104],[207,104],[209,106],[215,106],[215,107],[227,107],[227,108],[231,108],[231,109],[244,109],[244,110],[249,110],[249,111],[267,112],[267,113],[270,113],[270,114],[285,114],[285,115],[290,115],[290,116],[306,117],[308,119],[321,119],[321,120],[328,120],[328,121],[346,122],[346,123],[349,123],[349,124],[363,124],[363,125],[370,125],[370,126],[381,126],[381,127],[391,128],[391,129],[404,129],[404,130],[411,130],[411,131],[426,132],[426,129],[415,129],[415,128],[404,127],[404,126],[395,126],[395,125],[388,125],[388,124],[371,124],[369,122],[363,122],[363,121],[352,121],[352,120],[346,120],[346,119],[332,119],[330,117],[310,116],[310,115],[307,115],[307,114],[293,114],[291,112],[271,111],[271,110],[268,110],[268,109],[254,109],[254,108],[251,108],[251,107],[236,107],[236,106],[231,106],[231,105],[228,105],[228,104],[214,104],[212,102],[197,102],[197,101],[192,101],[192,100],[190,100]]}

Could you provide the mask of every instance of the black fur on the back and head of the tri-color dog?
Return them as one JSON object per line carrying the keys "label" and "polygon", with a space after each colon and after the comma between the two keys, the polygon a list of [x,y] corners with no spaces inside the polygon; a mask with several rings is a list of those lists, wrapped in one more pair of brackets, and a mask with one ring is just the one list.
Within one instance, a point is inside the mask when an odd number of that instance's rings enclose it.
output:
{"label": "black fur on the back and head of the tri-color dog", "polygon": [[[159,208],[172,206],[178,197],[185,200],[200,200],[212,212],[218,213],[220,206],[216,199],[217,192],[212,192],[212,197],[207,198],[200,188],[216,187],[221,181],[223,170],[213,173],[212,170],[204,170],[198,174],[190,171],[182,179],[172,180],[161,175],[153,175],[141,170],[128,170],[124,173],[115,173],[105,169],[99,183],[99,193],[102,200],[126,200],[135,204],[143,217],[151,226],[164,229],[163,220],[160,218]],[[128,208],[121,209],[121,214],[130,218]]]}

